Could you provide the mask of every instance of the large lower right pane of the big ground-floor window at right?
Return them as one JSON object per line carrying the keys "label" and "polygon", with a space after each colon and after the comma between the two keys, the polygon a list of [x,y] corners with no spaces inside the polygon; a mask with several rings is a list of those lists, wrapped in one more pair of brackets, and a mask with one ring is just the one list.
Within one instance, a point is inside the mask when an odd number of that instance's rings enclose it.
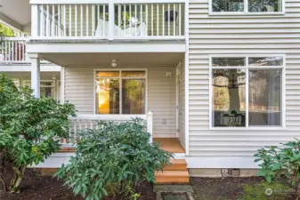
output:
{"label": "large lower right pane of the big ground-floor window at right", "polygon": [[249,125],[281,125],[281,70],[249,70]]}

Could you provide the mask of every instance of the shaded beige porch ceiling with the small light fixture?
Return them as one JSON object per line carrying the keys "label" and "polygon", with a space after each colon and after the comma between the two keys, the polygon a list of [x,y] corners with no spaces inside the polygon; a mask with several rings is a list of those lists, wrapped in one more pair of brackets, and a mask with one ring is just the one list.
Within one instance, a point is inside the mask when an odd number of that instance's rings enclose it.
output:
{"label": "shaded beige porch ceiling with the small light fixture", "polygon": [[140,67],[145,65],[177,65],[182,52],[123,52],[123,53],[47,53],[43,59],[63,67],[97,66],[110,68],[111,60],[117,60],[118,67]]}

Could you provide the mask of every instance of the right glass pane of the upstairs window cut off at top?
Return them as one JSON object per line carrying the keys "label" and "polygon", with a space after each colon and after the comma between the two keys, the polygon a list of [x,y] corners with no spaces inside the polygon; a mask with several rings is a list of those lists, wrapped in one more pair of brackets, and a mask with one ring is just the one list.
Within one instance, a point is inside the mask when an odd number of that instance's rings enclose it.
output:
{"label": "right glass pane of the upstairs window cut off at top", "polygon": [[281,12],[281,0],[248,0],[249,12]]}

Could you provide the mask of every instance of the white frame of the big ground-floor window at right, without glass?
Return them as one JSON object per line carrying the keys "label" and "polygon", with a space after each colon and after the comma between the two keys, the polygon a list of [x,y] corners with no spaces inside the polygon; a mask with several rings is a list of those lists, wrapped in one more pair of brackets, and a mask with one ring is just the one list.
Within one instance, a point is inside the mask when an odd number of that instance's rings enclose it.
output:
{"label": "white frame of the big ground-floor window at right, without glass", "polygon": [[[249,66],[248,65],[248,59],[252,57],[282,57],[283,64],[282,66]],[[245,114],[245,120],[246,124],[245,127],[214,127],[213,126],[213,107],[214,107],[214,88],[212,85],[213,81],[213,69],[215,68],[223,68],[226,67],[213,67],[212,61],[213,58],[245,58],[245,66],[228,66],[228,68],[243,68],[246,70],[246,114]],[[248,83],[249,83],[249,69],[281,69],[281,125],[280,126],[249,126],[248,122]],[[210,130],[284,130],[286,129],[286,55],[285,54],[211,54],[209,55],[209,129]]]}

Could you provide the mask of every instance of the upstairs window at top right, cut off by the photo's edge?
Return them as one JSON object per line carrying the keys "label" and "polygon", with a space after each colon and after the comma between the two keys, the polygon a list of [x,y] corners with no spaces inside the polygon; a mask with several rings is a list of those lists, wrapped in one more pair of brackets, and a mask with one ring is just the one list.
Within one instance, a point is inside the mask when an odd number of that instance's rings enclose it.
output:
{"label": "upstairs window at top right, cut off by the photo's edge", "polygon": [[211,0],[212,12],[283,12],[284,0]]}

